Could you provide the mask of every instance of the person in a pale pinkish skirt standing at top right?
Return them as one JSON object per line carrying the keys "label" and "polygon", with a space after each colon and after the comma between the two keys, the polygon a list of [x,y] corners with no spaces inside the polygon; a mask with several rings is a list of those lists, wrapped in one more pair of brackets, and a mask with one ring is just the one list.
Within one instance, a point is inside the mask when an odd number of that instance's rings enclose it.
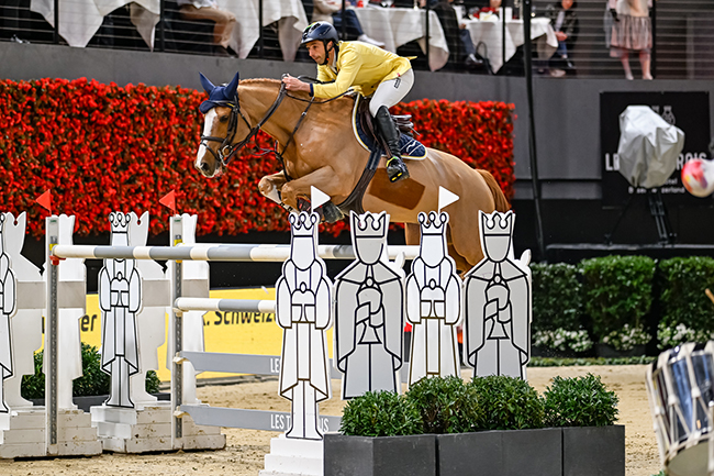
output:
{"label": "person in a pale pinkish skirt standing at top right", "polygon": [[629,68],[629,52],[639,54],[643,79],[652,79],[649,52],[652,47],[652,25],[649,20],[651,0],[609,0],[613,16],[610,56],[620,58],[625,77],[634,79]]}

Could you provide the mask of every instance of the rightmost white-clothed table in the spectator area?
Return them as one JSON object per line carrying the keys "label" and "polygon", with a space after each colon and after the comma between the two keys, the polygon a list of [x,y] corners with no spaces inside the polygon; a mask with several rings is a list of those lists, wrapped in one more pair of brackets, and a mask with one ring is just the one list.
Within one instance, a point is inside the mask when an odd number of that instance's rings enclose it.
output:
{"label": "rightmost white-clothed table in the spectator area", "polygon": [[[489,49],[489,62],[493,73],[503,66],[502,52],[502,29],[501,21],[489,20],[464,20],[466,27],[471,34],[473,45],[483,42]],[[550,20],[546,18],[534,18],[531,20],[531,40],[536,40],[538,57],[547,59],[558,48],[558,38],[550,26]],[[523,33],[523,20],[511,20],[505,22],[505,60],[513,57],[518,46],[525,43]],[[479,52],[482,53],[482,52]]]}

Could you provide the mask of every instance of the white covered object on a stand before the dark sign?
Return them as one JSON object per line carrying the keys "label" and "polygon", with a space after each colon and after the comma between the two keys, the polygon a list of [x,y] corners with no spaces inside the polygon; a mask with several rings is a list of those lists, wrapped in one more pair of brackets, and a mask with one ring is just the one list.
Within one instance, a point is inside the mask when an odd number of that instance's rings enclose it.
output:
{"label": "white covered object on a stand before the dark sign", "polygon": [[620,173],[633,187],[660,187],[677,168],[684,132],[648,106],[628,106],[620,114]]}

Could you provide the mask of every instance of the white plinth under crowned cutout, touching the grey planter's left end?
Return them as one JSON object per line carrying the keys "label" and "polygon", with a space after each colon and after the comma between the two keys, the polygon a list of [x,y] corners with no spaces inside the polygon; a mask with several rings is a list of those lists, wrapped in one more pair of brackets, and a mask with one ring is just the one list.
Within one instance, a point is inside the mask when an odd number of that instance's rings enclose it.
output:
{"label": "white plinth under crowned cutout, touching the grey planter's left end", "polygon": [[270,453],[265,455],[265,469],[259,476],[322,476],[322,440],[297,440],[281,434],[270,440]]}

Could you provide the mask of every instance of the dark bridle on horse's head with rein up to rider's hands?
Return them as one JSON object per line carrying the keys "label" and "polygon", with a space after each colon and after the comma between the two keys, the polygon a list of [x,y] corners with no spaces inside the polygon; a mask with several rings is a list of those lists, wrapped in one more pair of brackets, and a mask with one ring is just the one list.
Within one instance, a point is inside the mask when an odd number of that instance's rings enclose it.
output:
{"label": "dark bridle on horse's head with rein up to rider's hands", "polygon": [[[205,148],[213,154],[215,159],[223,166],[226,167],[231,160],[233,160],[233,157],[235,156],[238,151],[241,151],[245,145],[250,141],[255,135],[260,131],[260,128],[268,122],[270,117],[276,112],[280,103],[282,102],[283,98],[286,97],[286,85],[281,84],[280,85],[280,92],[278,92],[278,97],[276,100],[272,102],[272,106],[266,111],[265,115],[263,119],[255,125],[255,128],[250,126],[250,122],[246,119],[245,114],[243,114],[243,111],[241,111],[241,101],[238,100],[238,91],[236,90],[235,96],[232,101],[216,101],[217,106],[222,106],[225,108],[231,108],[231,115],[228,117],[228,132],[225,135],[225,137],[217,137],[213,135],[201,135],[201,145],[204,145]],[[238,130],[238,115],[241,119],[243,119],[243,122],[245,122],[245,125],[248,126],[249,132],[248,135],[245,136],[245,139],[237,144],[233,144],[233,140],[235,139],[235,134]],[[217,148],[217,153],[213,152],[211,147],[209,147],[209,142],[220,142],[221,145]]]}

